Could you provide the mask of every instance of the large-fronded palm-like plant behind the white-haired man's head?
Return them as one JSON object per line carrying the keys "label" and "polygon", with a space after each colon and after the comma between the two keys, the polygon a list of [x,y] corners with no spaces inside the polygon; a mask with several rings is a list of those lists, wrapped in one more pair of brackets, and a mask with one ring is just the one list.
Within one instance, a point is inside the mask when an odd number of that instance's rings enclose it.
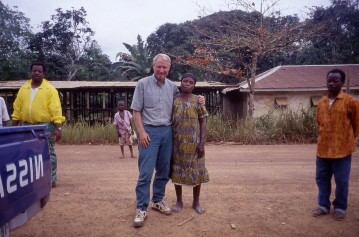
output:
{"label": "large-fronded palm-like plant behind the white-haired man's head", "polygon": [[131,81],[136,81],[146,76],[151,75],[151,60],[148,56],[148,51],[146,46],[144,45],[144,41],[141,36],[137,35],[137,44],[129,45],[127,43],[123,43],[130,54],[126,54],[123,52],[119,52],[116,55],[120,57],[121,66],[118,66],[117,69],[122,72],[122,74],[129,74],[128,78]]}

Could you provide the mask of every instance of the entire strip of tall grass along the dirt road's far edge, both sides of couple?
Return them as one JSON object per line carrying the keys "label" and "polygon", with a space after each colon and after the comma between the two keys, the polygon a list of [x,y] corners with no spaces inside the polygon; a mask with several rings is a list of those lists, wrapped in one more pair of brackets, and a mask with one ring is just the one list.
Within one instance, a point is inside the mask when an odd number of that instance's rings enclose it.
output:
{"label": "entire strip of tall grass along the dirt road's far edge, both sides of couple", "polygon": [[[110,121],[89,125],[64,124],[60,144],[118,144]],[[136,131],[136,128],[134,128]],[[206,120],[206,141],[235,141],[243,144],[314,143],[317,139],[315,108],[298,111],[270,110],[255,119],[210,115]]]}

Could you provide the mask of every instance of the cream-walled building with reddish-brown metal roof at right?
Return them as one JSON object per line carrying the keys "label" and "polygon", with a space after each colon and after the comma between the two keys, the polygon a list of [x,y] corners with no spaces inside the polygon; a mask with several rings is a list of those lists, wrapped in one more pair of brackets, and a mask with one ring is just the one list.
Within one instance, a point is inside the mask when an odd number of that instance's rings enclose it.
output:
{"label": "cream-walled building with reddish-brown metal roof at right", "polygon": [[[359,99],[359,64],[277,66],[256,76],[254,115],[264,115],[273,108],[296,111],[316,106],[319,99],[327,94],[327,73],[335,68],[346,73],[350,94]],[[224,89],[224,114],[246,117],[248,92],[246,81],[239,83],[237,88]]]}

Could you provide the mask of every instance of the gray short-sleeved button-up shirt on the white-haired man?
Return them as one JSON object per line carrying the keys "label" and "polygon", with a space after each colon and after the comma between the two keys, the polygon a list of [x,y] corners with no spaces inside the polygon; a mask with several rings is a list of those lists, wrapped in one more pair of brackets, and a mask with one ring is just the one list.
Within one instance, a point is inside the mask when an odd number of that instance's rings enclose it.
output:
{"label": "gray short-sleeved button-up shirt on the white-haired man", "polygon": [[173,96],[178,92],[167,78],[161,85],[154,75],[145,77],[137,82],[131,109],[141,112],[143,125],[171,125]]}

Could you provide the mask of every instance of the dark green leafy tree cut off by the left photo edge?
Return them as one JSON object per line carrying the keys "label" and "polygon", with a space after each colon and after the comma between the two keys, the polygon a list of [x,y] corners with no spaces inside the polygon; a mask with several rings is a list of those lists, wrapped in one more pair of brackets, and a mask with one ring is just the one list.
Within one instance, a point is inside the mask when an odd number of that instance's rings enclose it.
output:
{"label": "dark green leafy tree cut off by the left photo edge", "polygon": [[33,36],[29,21],[24,13],[0,1],[0,80],[20,80],[29,76],[31,53],[27,47]]}

